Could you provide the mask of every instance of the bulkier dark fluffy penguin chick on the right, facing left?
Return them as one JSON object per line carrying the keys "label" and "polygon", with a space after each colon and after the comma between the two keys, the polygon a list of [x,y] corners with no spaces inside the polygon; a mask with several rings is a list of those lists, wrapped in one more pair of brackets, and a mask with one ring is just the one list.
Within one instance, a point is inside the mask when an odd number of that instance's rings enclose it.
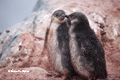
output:
{"label": "bulkier dark fluffy penguin chick on the right, facing left", "polygon": [[107,78],[104,49],[81,12],[67,16],[69,46],[72,65],[84,79]]}

